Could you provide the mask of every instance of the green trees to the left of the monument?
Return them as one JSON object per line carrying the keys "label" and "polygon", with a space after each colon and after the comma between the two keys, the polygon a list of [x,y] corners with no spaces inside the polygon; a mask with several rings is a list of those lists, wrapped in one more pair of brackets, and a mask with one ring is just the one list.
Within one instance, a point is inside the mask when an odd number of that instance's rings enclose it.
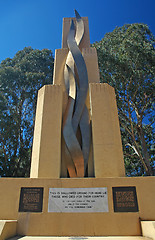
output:
{"label": "green trees to the left of the monument", "polygon": [[0,176],[29,176],[37,92],[52,83],[53,62],[27,47],[0,64]]}

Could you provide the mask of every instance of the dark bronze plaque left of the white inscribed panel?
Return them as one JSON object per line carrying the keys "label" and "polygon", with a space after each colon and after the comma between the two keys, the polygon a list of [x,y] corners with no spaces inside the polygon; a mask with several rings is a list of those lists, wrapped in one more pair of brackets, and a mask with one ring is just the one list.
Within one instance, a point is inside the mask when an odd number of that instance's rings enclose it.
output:
{"label": "dark bronze plaque left of the white inscribed panel", "polygon": [[19,212],[42,212],[43,188],[22,187],[20,192]]}

